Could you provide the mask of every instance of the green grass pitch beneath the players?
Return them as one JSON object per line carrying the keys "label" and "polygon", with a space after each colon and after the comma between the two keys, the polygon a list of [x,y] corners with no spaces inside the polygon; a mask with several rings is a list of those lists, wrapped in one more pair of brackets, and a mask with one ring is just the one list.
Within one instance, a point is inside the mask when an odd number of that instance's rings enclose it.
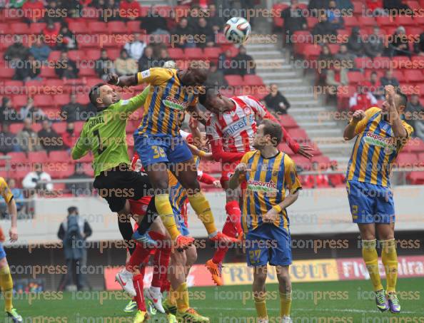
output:
{"label": "green grass pitch beneath the players", "polygon": [[[385,282],[383,282],[383,285]],[[398,281],[401,314],[380,313],[370,292],[370,281],[304,282],[293,284],[293,322],[424,322],[424,278]],[[250,286],[193,287],[191,305],[216,323],[252,323],[255,317]],[[121,323],[133,314],[122,309],[128,297],[121,292],[43,294],[29,302],[16,299],[14,307],[31,323]],[[40,295],[41,296],[41,295]],[[102,299],[100,299],[102,298]],[[30,304],[31,303],[31,304]],[[268,284],[268,315],[276,321],[278,285]],[[273,320],[274,319],[274,320]],[[166,322],[158,314],[150,322]]]}

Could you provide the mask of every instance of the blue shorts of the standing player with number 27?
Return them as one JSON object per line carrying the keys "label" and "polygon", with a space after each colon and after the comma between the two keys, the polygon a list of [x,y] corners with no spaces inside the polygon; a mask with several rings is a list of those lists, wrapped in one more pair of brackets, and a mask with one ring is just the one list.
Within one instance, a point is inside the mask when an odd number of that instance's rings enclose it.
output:
{"label": "blue shorts of the standing player with number 27", "polygon": [[291,265],[290,232],[283,227],[264,223],[246,234],[248,266]]}

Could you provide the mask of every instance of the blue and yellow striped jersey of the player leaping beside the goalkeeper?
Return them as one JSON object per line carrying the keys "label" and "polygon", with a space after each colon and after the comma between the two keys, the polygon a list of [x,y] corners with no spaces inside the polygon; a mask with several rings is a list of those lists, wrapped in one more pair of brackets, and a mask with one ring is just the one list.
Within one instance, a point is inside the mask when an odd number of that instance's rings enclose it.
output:
{"label": "blue and yellow striped jersey of the player leaping beside the goalkeeper", "polygon": [[168,68],[150,68],[139,72],[137,81],[138,84],[151,84],[138,133],[178,135],[184,111],[198,101],[192,88],[183,86],[177,71]]}

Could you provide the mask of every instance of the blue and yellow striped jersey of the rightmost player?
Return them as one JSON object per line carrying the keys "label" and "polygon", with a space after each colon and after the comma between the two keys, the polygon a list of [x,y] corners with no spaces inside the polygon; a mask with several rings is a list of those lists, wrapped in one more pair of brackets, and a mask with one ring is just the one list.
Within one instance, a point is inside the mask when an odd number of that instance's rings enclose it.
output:
{"label": "blue and yellow striped jersey of the rightmost player", "polygon": [[[356,125],[355,135],[358,137],[350,155],[347,180],[390,186],[393,162],[407,140],[397,140],[390,123],[382,117],[380,108],[369,108],[365,111],[365,118]],[[409,138],[413,128],[405,121],[402,124]]]}

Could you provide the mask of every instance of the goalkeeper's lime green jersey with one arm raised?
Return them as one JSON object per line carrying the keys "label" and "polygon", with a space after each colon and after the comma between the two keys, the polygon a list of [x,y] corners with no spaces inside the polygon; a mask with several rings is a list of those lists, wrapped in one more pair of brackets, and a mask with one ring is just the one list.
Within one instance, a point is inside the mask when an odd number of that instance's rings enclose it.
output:
{"label": "goalkeeper's lime green jersey with one arm raised", "polygon": [[149,86],[138,96],[113,103],[89,118],[72,148],[72,158],[79,159],[91,150],[95,176],[122,163],[129,165],[126,121],[131,113],[143,106],[148,92]]}

